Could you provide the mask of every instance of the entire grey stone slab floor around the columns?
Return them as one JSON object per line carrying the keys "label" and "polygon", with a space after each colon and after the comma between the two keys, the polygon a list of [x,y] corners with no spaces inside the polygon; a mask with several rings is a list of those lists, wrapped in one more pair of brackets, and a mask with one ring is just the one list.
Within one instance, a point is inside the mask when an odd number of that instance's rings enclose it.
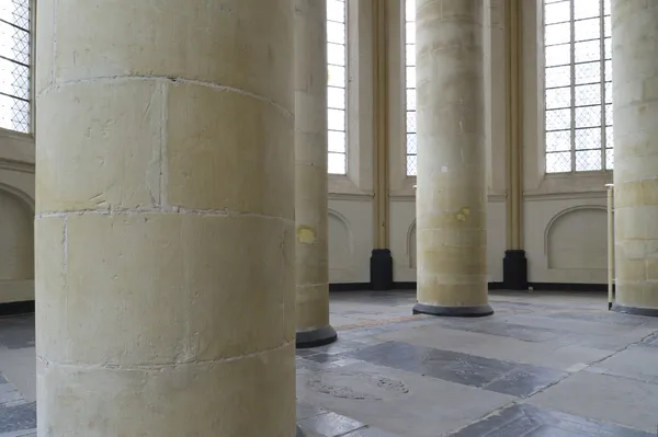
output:
{"label": "entire grey stone slab floor around the columns", "polygon": [[[307,436],[658,434],[658,319],[597,294],[495,292],[484,319],[411,317],[413,302],[332,295],[339,341],[297,352]],[[0,319],[0,437],[35,436],[33,323]]]}

